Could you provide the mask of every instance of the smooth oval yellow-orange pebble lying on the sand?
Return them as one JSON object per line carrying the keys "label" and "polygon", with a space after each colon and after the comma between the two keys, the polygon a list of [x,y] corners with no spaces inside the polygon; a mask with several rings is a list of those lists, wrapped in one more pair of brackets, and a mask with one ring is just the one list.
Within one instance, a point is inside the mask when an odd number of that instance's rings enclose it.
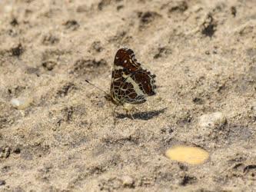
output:
{"label": "smooth oval yellow-orange pebble lying on the sand", "polygon": [[209,158],[207,151],[199,147],[175,146],[165,152],[165,155],[174,161],[187,164],[203,164]]}

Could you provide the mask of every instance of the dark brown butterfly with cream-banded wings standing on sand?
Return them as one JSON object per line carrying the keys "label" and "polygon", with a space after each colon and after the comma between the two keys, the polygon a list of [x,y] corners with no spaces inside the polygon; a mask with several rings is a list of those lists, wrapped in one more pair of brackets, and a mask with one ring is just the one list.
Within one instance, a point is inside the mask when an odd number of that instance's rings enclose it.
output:
{"label": "dark brown butterfly with cream-banded wings standing on sand", "polygon": [[105,98],[118,106],[142,104],[148,96],[156,94],[155,88],[155,74],[141,68],[134,51],[120,48],[112,67],[110,94]]}

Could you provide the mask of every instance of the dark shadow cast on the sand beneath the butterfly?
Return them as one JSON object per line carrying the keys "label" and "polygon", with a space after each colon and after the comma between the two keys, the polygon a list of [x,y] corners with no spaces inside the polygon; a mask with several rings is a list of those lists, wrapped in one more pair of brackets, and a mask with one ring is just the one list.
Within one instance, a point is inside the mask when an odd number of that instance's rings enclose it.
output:
{"label": "dark shadow cast on the sand beneath the butterfly", "polygon": [[[149,120],[151,118],[157,117],[159,114],[163,114],[167,108],[163,108],[160,110],[153,110],[153,111],[144,111],[144,112],[137,112],[133,113],[132,117],[134,119],[141,119],[141,120]],[[124,118],[131,118],[130,114],[117,114],[116,118],[124,119]]]}

